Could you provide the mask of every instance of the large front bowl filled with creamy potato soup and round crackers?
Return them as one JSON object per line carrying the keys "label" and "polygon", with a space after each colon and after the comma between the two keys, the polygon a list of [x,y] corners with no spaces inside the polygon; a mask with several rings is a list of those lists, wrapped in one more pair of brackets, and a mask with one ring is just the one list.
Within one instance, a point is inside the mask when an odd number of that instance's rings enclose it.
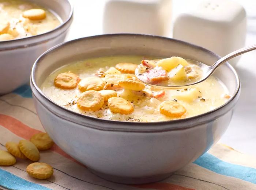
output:
{"label": "large front bowl filled with creamy potato soup and round crackers", "polygon": [[169,177],[221,138],[240,81],[229,63],[191,88],[154,88],[135,77],[143,60],[165,58],[211,65],[219,56],[179,40],[139,34],[91,36],[46,51],[31,73],[46,132],[104,179],[135,184]]}

